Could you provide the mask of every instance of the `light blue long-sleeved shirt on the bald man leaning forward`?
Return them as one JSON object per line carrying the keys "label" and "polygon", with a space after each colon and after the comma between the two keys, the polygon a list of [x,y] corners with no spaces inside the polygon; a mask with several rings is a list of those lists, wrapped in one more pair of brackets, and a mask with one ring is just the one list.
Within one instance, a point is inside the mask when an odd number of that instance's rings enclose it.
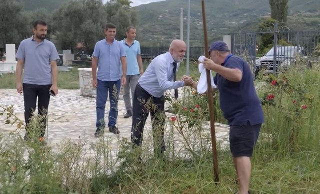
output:
{"label": "light blue long-sleeved shirt on the bald man leaning forward", "polygon": [[[159,98],[165,90],[184,86],[183,81],[173,81],[173,62],[169,52],[155,57],[142,74],[138,83],[150,95]],[[177,63],[176,71],[179,63]]]}

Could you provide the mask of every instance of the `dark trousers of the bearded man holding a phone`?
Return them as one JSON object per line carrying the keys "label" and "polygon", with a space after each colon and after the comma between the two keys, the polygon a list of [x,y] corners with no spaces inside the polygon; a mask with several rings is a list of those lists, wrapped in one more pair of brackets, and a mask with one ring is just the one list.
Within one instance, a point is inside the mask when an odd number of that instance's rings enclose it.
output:
{"label": "dark trousers of the bearded man holding a phone", "polygon": [[26,131],[29,129],[30,118],[32,113],[35,112],[36,98],[38,98],[38,114],[43,115],[44,118],[41,121],[41,137],[44,136],[46,127],[46,115],[50,101],[49,89],[51,85],[35,85],[35,84],[22,84],[23,87],[23,99],[24,99],[24,120],[27,127]]}

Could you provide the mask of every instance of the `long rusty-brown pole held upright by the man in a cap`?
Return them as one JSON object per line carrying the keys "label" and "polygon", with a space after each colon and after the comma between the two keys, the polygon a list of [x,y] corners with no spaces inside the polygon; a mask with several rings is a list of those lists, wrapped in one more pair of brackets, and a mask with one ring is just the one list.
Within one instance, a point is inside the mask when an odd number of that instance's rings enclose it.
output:
{"label": "long rusty-brown pole held upright by the man in a cap", "polygon": [[[209,58],[208,37],[207,37],[207,33],[206,33],[207,31],[206,31],[204,0],[201,0],[201,6],[202,6],[203,37],[204,37],[204,55],[205,55],[206,58]],[[218,159],[217,159],[217,153],[216,153],[216,141],[215,141],[215,129],[214,129],[214,112],[213,112],[211,78],[210,78],[210,70],[208,70],[208,69],[206,69],[206,82],[207,82],[207,85],[208,85],[207,95],[208,95],[209,116],[210,116],[210,132],[211,132],[212,157],[213,157],[213,173],[214,173],[215,184],[217,184],[219,182]]]}

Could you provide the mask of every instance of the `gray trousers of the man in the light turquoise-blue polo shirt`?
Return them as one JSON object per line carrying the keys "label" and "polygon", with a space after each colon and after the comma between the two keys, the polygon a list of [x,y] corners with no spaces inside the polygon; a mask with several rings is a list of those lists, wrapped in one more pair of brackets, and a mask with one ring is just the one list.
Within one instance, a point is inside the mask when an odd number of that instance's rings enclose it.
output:
{"label": "gray trousers of the man in the light turquoise-blue polo shirt", "polygon": [[131,97],[133,99],[133,94],[135,90],[136,84],[138,84],[138,80],[140,75],[127,75],[126,83],[123,86],[123,100],[126,111],[132,112],[131,100],[130,100],[130,89],[131,89]]}

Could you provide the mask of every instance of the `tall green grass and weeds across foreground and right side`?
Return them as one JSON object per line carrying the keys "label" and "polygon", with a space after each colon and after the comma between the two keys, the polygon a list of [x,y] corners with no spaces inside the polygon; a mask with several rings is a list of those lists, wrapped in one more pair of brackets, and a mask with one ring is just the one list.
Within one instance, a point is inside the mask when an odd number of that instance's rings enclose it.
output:
{"label": "tall green grass and weeds across foreground and right side", "polygon": [[[181,66],[183,67],[183,66]],[[182,68],[180,69],[182,70]],[[319,64],[307,69],[292,67],[278,76],[265,76],[258,95],[273,93],[274,104],[263,104],[265,122],[252,157],[251,194],[320,193],[320,86]],[[284,75],[284,76],[283,76]],[[283,79],[284,78],[284,79]],[[276,80],[277,85],[269,84]],[[191,101],[191,100],[194,101]],[[296,104],[292,102],[296,100]],[[197,101],[190,98],[190,104]],[[307,105],[302,109],[301,105]],[[1,112],[1,111],[0,111]],[[201,123],[201,111],[186,114],[186,121]],[[221,116],[221,112],[217,112]],[[4,116],[6,116],[4,111]],[[36,120],[32,120],[37,122]],[[0,191],[2,193],[81,194],[234,194],[236,175],[229,151],[218,146],[218,184],[214,183],[210,137],[192,141],[202,132],[196,123],[183,129],[184,154],[177,153],[168,125],[164,158],[153,156],[152,143],[132,150],[128,140],[118,139],[118,156],[110,151],[110,139],[94,144],[66,140],[59,149],[25,143],[15,133],[0,135]],[[50,124],[49,124],[50,125]],[[34,125],[36,126],[36,125]],[[187,135],[192,135],[188,137]],[[203,134],[202,134],[203,135]],[[89,145],[88,145],[89,144]],[[90,157],[83,153],[91,149]],[[24,157],[28,153],[28,157]],[[142,163],[137,161],[141,153]],[[187,156],[187,157],[185,157]]]}

